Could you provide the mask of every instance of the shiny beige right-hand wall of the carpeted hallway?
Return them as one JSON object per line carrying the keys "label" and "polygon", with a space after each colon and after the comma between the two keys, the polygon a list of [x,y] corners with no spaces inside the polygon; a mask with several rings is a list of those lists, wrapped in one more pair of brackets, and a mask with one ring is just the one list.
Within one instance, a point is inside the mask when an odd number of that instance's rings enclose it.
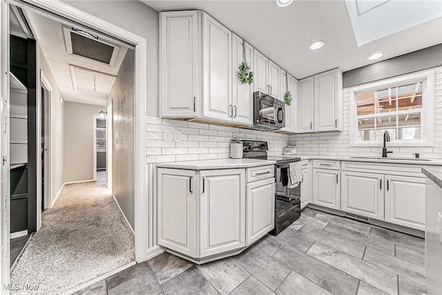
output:
{"label": "shiny beige right-hand wall of the carpeted hallway", "polygon": [[134,66],[134,51],[128,50],[108,95],[108,104],[112,101],[113,108],[113,115],[108,116],[113,120],[112,191],[132,228],[135,222]]}

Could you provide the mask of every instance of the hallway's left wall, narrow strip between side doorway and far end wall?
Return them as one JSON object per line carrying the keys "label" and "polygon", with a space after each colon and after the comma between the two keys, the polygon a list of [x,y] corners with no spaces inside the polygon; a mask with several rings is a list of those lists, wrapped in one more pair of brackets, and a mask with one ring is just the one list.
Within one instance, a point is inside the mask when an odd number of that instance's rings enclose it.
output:
{"label": "hallway's left wall, narrow strip between side doorway and far end wall", "polygon": [[48,79],[48,82],[50,84],[50,87],[52,88],[51,93],[51,129],[52,129],[52,146],[50,151],[52,153],[52,182],[51,182],[51,189],[52,189],[52,199],[51,204],[54,201],[55,196],[57,196],[57,193],[61,189],[64,183],[64,149],[63,149],[63,140],[64,140],[64,107],[63,104],[60,101],[61,97],[61,91],[57,85],[57,82],[55,82],[55,78],[52,75],[52,72],[49,68],[48,61],[46,60],[46,57],[44,56],[43,51],[41,51],[41,48],[38,47],[38,66],[39,69],[44,73],[46,79]]}

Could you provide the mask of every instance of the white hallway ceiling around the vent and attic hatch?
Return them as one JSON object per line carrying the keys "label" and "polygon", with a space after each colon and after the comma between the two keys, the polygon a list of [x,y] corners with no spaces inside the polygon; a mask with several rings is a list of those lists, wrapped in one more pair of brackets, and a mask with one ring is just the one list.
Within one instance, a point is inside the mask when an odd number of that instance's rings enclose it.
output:
{"label": "white hallway ceiling around the vent and attic hatch", "polygon": [[[78,55],[68,55],[61,23],[29,11],[26,12],[26,16],[64,100],[106,106],[108,89],[113,83],[109,75],[117,75],[127,48],[119,50],[119,57],[114,66]],[[71,71],[71,66],[82,68],[83,71]],[[90,71],[96,73],[92,74]],[[80,75],[73,77],[71,72]]]}

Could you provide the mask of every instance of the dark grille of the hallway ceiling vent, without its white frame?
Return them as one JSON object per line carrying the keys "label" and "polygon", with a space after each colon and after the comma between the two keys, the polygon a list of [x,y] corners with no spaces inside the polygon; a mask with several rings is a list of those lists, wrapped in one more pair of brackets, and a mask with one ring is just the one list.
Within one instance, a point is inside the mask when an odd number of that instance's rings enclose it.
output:
{"label": "dark grille of the hallway ceiling vent, without its white frame", "polygon": [[75,32],[70,32],[70,40],[72,42],[73,54],[111,64],[114,50],[113,46],[79,35]]}

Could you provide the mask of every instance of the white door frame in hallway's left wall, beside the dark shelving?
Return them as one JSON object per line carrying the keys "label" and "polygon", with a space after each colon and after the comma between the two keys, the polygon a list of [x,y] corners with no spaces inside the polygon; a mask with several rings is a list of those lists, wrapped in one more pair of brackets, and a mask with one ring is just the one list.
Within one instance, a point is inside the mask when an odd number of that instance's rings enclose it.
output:
{"label": "white door frame in hallway's left wall, beside the dark shelving", "polygon": [[[45,111],[42,109],[42,104],[44,97],[41,96],[41,88],[44,88],[48,92],[48,101],[47,106],[44,106],[46,108],[47,112],[45,113],[45,120],[46,116],[48,117],[48,131],[46,131],[45,128],[45,140],[46,135],[48,135],[48,161],[46,161],[45,157],[45,166],[44,169],[48,175],[41,175],[41,156],[37,161],[37,230],[41,227],[41,202],[44,204],[44,209],[48,209],[52,207],[52,86],[50,86],[49,80],[44,75],[43,70],[39,70],[40,79],[39,79],[39,91],[37,93],[37,155],[41,155],[43,151],[41,151],[41,124],[44,124],[44,122],[41,120],[41,111]],[[46,164],[48,163],[48,164]],[[47,169],[47,170],[46,170]],[[43,196],[41,196],[41,181],[43,179],[43,176],[46,176],[44,178],[45,186],[44,186],[44,193]]]}

